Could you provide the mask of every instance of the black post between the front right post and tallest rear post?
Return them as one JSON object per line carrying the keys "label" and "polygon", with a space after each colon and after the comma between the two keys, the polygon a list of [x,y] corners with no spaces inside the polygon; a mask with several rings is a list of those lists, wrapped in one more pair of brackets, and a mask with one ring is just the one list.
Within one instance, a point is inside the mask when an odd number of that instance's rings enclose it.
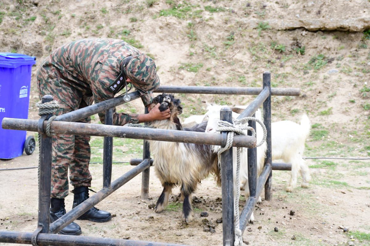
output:
{"label": "black post between the front right post and tallest rear post", "polygon": [[[256,117],[256,114],[253,114]],[[256,129],[255,121],[248,121],[248,125]],[[256,134],[263,134],[257,132]],[[248,131],[248,135],[252,136],[252,132]],[[248,185],[249,185],[249,196],[256,197],[257,188],[257,148],[248,148]]]}

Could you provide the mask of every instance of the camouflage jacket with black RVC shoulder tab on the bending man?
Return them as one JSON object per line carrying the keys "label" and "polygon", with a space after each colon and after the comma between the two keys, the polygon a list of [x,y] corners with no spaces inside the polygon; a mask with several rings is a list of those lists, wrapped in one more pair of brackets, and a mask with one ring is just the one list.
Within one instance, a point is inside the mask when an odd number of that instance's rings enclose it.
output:
{"label": "camouflage jacket with black RVC shoulder tab on the bending man", "polygon": [[[81,100],[87,105],[110,99],[114,93],[108,89],[120,75],[124,58],[142,54],[137,48],[120,39],[91,38],[73,41],[53,51],[37,72],[40,90],[47,88],[54,96],[74,110]],[[153,94],[148,89],[159,86],[132,82],[139,91],[144,105],[151,103]],[[104,122],[104,112],[99,114]],[[137,114],[115,113],[114,124],[137,123]]]}

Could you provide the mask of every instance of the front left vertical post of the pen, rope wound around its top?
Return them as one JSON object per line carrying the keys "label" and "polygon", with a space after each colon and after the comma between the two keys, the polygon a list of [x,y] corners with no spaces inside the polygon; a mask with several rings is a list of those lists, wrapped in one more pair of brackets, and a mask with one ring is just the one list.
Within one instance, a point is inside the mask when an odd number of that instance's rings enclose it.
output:
{"label": "front left vertical post of the pen, rope wound around its top", "polygon": [[[53,101],[53,97],[45,95],[41,103]],[[39,128],[48,120],[52,114],[42,115],[39,120]],[[49,233],[50,217],[50,185],[51,185],[51,156],[52,156],[52,137],[44,132],[38,135],[40,139],[40,153],[38,166],[38,226],[42,226],[41,233]]]}

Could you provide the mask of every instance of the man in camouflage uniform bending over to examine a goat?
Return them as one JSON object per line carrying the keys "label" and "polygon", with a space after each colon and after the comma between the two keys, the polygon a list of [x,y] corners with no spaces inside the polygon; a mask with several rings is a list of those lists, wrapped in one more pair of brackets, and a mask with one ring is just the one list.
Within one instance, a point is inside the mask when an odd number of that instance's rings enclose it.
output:
{"label": "man in camouflage uniform bending over to examine a goat", "polygon": [[[55,115],[87,107],[113,98],[131,83],[139,92],[142,102],[149,107],[152,90],[159,86],[154,61],[137,48],[119,39],[82,39],[57,48],[48,56],[37,71],[40,98],[52,95],[59,101]],[[116,113],[114,125],[148,122],[169,118],[169,110],[160,112],[158,106],[149,107],[148,114]],[[104,112],[99,114],[104,123]],[[79,122],[90,123],[90,117]],[[86,200],[91,186],[90,136],[53,136],[53,160],[51,176],[51,222],[65,214],[64,198],[68,195],[68,168],[74,186],[73,208]],[[111,214],[95,207],[78,219],[106,222]],[[66,235],[79,235],[81,228],[74,222],[60,231]]]}

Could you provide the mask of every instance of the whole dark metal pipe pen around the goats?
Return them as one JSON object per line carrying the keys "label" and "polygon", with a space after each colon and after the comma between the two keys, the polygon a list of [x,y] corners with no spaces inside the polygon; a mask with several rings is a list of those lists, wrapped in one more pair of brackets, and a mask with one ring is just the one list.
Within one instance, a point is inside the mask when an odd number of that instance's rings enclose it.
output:
{"label": "whole dark metal pipe pen around the goats", "polygon": [[[265,188],[266,200],[272,199],[271,194],[271,178],[272,178],[272,159],[271,159],[271,102],[270,98],[273,95],[299,95],[297,89],[278,89],[270,88],[270,73],[263,74],[263,88],[233,88],[233,87],[175,87],[161,86],[155,92],[167,93],[199,93],[199,94],[244,94],[258,95],[255,100],[240,114],[240,117],[252,116],[255,111],[263,104],[264,124],[267,128],[267,156],[265,167],[262,170],[261,176],[257,179],[256,175],[256,140],[251,136],[235,136],[232,146],[247,147],[249,168],[248,181],[250,189],[250,197],[246,201],[246,206],[240,215],[240,230],[245,230],[246,224],[253,208],[257,202],[256,197]],[[130,93],[132,100],[138,98],[137,92]],[[45,97],[44,103],[53,98]],[[127,181],[132,179],[139,173],[142,173],[142,199],[148,198],[149,192],[149,168],[151,165],[150,151],[147,140],[156,141],[171,141],[171,142],[187,142],[199,143],[208,145],[224,146],[226,143],[226,132],[220,134],[206,134],[203,132],[185,132],[163,129],[147,129],[147,128],[131,128],[112,126],[112,108],[125,103],[122,97],[112,98],[80,110],[73,111],[68,114],[61,115],[54,119],[50,124],[50,133],[52,134],[78,134],[78,135],[93,135],[104,136],[104,163],[103,163],[103,185],[102,189],[97,194],[92,195],[88,200],[78,205],[76,208],[69,211],[58,221],[49,224],[48,213],[50,207],[50,172],[51,172],[51,138],[47,134],[47,119],[51,115],[44,115],[39,121],[27,119],[10,119],[4,118],[2,125],[4,129],[16,129],[39,132],[41,134],[40,145],[40,185],[39,185],[39,214],[38,214],[38,229],[33,233],[28,232],[9,232],[0,231],[0,242],[7,243],[27,243],[37,245],[43,243],[48,245],[146,245],[148,242],[110,239],[110,238],[90,238],[83,236],[65,236],[55,235],[64,226],[74,221],[85,211],[93,207],[95,204],[103,200],[105,197],[113,193],[115,190],[123,186]],[[106,111],[106,125],[76,123],[81,118],[96,114],[101,111]],[[223,120],[231,121],[231,111],[222,111]],[[251,125],[252,122],[251,122]],[[112,165],[112,137],[144,139],[143,158],[140,163],[128,173],[122,175],[115,181],[111,181],[111,165]],[[234,245],[234,216],[233,216],[233,185],[232,185],[232,150],[224,152],[221,156],[221,171],[222,171],[222,210],[223,210],[223,245]],[[280,164],[280,170],[289,169],[288,165]],[[231,176],[230,176],[231,175]],[[151,242],[152,245],[170,245],[165,243]]]}

